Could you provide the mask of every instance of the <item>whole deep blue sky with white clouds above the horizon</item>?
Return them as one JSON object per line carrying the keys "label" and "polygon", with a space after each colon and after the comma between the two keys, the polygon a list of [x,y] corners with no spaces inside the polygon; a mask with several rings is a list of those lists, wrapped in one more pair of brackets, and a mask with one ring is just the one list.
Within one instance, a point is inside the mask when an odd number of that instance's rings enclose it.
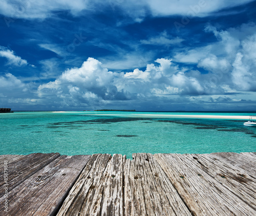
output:
{"label": "whole deep blue sky with white clouds above the horizon", "polygon": [[0,106],[254,111],[256,1],[3,0]]}

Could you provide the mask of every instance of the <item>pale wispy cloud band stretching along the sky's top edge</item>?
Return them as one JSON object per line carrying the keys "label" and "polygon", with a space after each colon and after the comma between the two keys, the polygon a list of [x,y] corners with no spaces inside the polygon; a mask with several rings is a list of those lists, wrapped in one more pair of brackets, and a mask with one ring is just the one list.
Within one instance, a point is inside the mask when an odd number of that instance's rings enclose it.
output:
{"label": "pale wispy cloud band stretching along the sky's top edge", "polygon": [[12,18],[25,19],[45,19],[54,15],[55,11],[70,11],[74,16],[80,15],[83,10],[95,11],[100,7],[112,8],[113,12],[122,9],[124,13],[130,15],[135,21],[141,22],[143,18],[151,13],[153,16],[207,16],[212,12],[218,12],[225,8],[243,5],[253,0],[234,1],[210,1],[210,0],[77,0],[77,1],[31,1],[31,0],[2,0],[0,13]]}

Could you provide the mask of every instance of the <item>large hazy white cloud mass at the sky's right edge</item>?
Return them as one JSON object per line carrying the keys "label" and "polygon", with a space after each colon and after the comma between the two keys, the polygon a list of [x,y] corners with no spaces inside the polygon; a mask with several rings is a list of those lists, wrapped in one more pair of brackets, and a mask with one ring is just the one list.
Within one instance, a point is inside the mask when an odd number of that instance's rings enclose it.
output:
{"label": "large hazy white cloud mass at the sky's right edge", "polygon": [[[225,92],[224,85],[236,91],[256,91],[256,25],[243,24],[237,28],[217,30],[207,26],[217,42],[204,47],[177,51],[176,62],[194,64],[207,74],[195,75],[207,94]],[[194,76],[193,75],[193,76]],[[214,88],[214,89],[212,89]],[[218,90],[217,92],[215,92]]]}

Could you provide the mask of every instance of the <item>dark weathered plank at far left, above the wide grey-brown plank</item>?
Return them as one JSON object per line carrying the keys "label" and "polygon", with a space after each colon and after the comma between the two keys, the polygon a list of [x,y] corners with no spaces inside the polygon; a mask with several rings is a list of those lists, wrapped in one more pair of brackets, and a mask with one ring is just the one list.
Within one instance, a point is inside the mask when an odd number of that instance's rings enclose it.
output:
{"label": "dark weathered plank at far left, above the wide grey-brown plank", "polygon": [[[8,164],[8,191],[24,182],[34,175],[38,170],[44,168],[49,163],[60,156],[59,153],[51,154],[30,154]],[[0,178],[3,179],[4,170],[0,170]],[[5,182],[0,182],[0,194],[3,194]]]}

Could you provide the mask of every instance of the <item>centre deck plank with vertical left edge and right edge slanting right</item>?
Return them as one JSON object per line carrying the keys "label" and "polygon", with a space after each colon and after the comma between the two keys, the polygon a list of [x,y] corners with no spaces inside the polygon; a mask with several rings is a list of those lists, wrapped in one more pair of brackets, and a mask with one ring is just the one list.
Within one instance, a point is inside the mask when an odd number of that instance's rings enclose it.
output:
{"label": "centre deck plank with vertical left edge and right edge slanting right", "polygon": [[125,215],[191,215],[151,154],[124,164]]}

